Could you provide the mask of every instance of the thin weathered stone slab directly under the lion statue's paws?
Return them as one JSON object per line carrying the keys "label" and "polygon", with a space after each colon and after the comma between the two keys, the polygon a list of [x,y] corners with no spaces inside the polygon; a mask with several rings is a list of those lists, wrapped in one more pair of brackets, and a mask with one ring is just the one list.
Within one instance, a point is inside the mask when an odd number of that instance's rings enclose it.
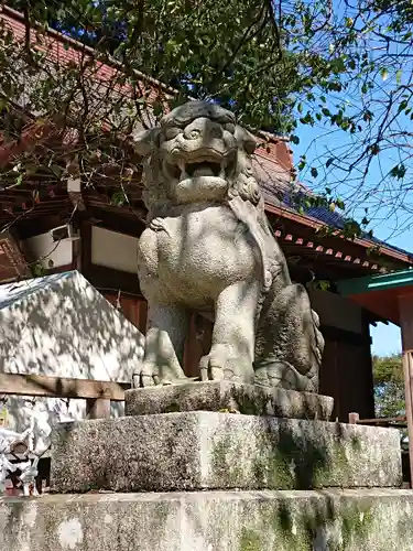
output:
{"label": "thin weathered stone slab directly under the lion statue's paws", "polygon": [[137,388],[124,393],[127,415],[228,410],[231,413],[328,421],[333,406],[333,398],[327,396],[231,381]]}

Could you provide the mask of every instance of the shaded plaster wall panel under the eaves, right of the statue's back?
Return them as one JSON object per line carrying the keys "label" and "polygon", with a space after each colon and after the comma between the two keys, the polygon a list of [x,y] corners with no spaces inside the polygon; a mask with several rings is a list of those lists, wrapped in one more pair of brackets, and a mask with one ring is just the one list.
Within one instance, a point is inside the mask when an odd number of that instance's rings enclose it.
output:
{"label": "shaded plaster wall panel under the eaves, right of the statue's back", "polygon": [[313,309],[323,325],[362,333],[361,309],[356,303],[328,291],[309,291]]}

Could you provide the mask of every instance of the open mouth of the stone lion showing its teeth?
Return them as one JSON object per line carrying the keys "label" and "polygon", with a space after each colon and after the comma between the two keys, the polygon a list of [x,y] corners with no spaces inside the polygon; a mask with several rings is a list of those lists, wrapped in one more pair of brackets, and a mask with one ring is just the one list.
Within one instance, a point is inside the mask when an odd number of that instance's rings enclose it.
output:
{"label": "open mouth of the stone lion showing its teeth", "polygon": [[193,180],[196,177],[217,177],[228,180],[233,174],[235,162],[228,158],[221,160],[184,160],[180,159],[176,163],[165,163],[167,174],[178,182]]}

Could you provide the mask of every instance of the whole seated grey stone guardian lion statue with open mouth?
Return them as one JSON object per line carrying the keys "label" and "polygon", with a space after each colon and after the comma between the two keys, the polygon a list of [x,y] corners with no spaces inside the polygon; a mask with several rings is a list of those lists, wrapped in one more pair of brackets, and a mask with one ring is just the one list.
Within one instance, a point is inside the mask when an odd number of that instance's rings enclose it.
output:
{"label": "whole seated grey stone guardian lion statue with open mouth", "polygon": [[137,137],[148,227],[138,247],[149,303],[140,385],[187,380],[188,317],[214,322],[202,380],[317,391],[324,348],[306,290],[293,284],[252,169],[256,139],[221,107],[189,101]]}

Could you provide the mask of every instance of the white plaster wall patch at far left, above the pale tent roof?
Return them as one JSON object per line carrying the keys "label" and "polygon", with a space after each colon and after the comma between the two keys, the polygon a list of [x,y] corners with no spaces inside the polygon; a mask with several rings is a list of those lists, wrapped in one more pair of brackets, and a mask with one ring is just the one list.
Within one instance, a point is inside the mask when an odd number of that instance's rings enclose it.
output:
{"label": "white plaster wall patch at far left, above the pale tent roof", "polygon": [[22,248],[33,261],[39,260],[45,269],[51,267],[50,260],[54,268],[58,268],[69,264],[73,259],[73,241],[70,239],[54,241],[50,231],[24,239]]}

